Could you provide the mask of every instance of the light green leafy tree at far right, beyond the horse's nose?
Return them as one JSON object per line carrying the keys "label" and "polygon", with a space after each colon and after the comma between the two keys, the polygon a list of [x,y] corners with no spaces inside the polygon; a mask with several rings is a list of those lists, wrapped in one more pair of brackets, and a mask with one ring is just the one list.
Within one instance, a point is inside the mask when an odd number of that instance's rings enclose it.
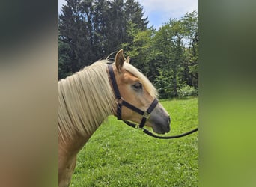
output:
{"label": "light green leafy tree at far right, beyond the horse's nose", "polygon": [[[186,13],[181,19],[170,19],[153,39],[156,49],[156,87],[162,95],[177,96],[186,85],[198,88],[198,17],[196,12]],[[168,77],[171,91],[162,89]],[[162,80],[162,82],[161,82]],[[166,86],[165,86],[166,88]],[[168,97],[169,97],[168,96]]]}

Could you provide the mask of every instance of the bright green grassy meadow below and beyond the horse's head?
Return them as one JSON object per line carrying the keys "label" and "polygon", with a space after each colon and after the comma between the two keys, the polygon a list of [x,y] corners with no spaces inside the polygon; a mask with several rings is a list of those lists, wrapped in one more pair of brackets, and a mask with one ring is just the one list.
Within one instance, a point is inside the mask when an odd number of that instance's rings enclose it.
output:
{"label": "bright green grassy meadow below and beyond the horse's head", "polygon": [[[176,135],[198,126],[198,98],[160,101]],[[115,117],[79,152],[70,186],[198,186],[198,132],[152,138]]]}

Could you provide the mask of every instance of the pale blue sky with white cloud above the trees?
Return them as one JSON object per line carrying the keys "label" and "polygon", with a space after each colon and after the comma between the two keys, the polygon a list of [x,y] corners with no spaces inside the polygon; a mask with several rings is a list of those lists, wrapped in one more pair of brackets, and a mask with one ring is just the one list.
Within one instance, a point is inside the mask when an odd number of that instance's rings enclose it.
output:
{"label": "pale blue sky with white cloud above the trees", "polygon": [[[158,29],[170,18],[184,16],[187,12],[198,11],[198,0],[135,0],[143,7],[144,17],[148,17],[148,26]],[[58,0],[58,13],[65,0]]]}

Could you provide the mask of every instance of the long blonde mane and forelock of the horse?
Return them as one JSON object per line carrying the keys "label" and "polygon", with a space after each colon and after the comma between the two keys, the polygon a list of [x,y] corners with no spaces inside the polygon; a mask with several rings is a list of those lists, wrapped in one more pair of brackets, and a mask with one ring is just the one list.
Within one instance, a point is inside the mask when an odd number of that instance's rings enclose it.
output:
{"label": "long blonde mane and forelock of the horse", "polygon": [[[109,83],[107,62],[97,61],[58,82],[58,134],[62,141],[76,133],[91,135],[115,113],[117,101]],[[135,67],[124,63],[124,69],[140,79],[150,96],[158,96],[156,88]]]}

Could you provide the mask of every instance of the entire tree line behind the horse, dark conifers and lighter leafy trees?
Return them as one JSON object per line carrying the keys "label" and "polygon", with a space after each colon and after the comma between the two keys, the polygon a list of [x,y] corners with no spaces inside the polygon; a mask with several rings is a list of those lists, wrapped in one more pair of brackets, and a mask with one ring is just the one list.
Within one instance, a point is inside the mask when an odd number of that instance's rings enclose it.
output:
{"label": "entire tree line behind the horse, dark conifers and lighter leafy trees", "polygon": [[134,0],[66,1],[59,16],[59,79],[124,49],[161,98],[180,96],[185,85],[198,89],[196,11],[169,19],[156,31],[147,28]]}

